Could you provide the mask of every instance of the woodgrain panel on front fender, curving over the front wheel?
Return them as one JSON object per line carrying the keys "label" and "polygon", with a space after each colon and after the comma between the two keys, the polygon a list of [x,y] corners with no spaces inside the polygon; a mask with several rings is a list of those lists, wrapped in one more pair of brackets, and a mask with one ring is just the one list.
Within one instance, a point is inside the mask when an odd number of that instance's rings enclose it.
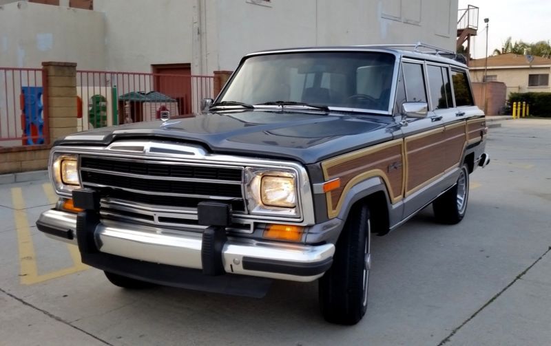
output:
{"label": "woodgrain panel on front fender, curving over the front wheel", "polygon": [[340,213],[346,193],[369,177],[381,177],[393,202],[402,199],[404,188],[402,140],[393,140],[322,162],[325,180],[340,178],[340,188],[326,193],[329,217]]}

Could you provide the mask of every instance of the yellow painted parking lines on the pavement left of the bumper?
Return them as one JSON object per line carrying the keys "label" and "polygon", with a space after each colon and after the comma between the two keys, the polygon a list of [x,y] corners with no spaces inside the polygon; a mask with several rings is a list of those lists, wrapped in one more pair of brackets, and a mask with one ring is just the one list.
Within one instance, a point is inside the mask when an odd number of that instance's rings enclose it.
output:
{"label": "yellow painted parking lines on the pavement left of the bumper", "polygon": [[[49,184],[44,184],[43,189],[48,200],[52,202],[52,197],[55,196],[55,193],[52,191],[46,192]],[[52,186],[50,186],[50,189]],[[73,266],[69,268],[63,268],[61,270],[56,270],[54,272],[48,272],[44,274],[39,274],[37,268],[37,257],[34,252],[34,244],[32,244],[32,236],[30,233],[30,226],[28,221],[28,214],[25,210],[25,199],[23,198],[23,191],[19,187],[14,187],[11,189],[12,193],[12,206],[14,208],[14,220],[15,220],[15,229],[17,233],[17,243],[19,249],[19,277],[21,277],[21,284],[23,285],[33,285],[35,283],[48,281],[50,279],[55,279],[58,277],[63,277],[67,274],[73,274],[75,272],[80,272],[89,268],[85,266],[80,261],[79,250],[76,246],[72,244],[67,244],[67,248],[70,252]],[[50,193],[52,193],[50,195]]]}

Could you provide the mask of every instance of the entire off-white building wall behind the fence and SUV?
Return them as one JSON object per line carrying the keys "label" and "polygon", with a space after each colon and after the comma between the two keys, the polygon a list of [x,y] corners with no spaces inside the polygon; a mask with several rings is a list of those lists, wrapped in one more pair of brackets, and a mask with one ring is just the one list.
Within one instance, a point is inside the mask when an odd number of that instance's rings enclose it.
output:
{"label": "entire off-white building wall behind the fence and SUV", "polygon": [[[1,0],[0,0],[1,1]],[[233,70],[248,52],[424,41],[455,49],[457,0],[95,0],[94,10],[26,1],[0,9],[0,65],[192,74]]]}

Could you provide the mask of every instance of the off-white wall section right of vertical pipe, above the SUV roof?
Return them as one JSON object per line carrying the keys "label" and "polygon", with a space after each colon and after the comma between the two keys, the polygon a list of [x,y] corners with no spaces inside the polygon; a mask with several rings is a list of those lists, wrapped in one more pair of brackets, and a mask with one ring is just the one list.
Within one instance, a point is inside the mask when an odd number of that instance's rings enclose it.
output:
{"label": "off-white wall section right of vertical pipe, above the SUV roof", "polygon": [[209,71],[233,70],[248,52],[282,47],[422,41],[455,50],[457,0],[217,0],[214,13],[211,7],[202,38]]}

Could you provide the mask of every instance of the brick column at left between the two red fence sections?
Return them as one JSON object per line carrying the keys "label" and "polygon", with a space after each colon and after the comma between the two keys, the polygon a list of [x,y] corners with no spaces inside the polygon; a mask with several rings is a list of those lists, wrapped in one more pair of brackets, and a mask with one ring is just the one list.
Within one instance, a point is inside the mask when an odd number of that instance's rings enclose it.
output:
{"label": "brick column at left between the two red fence sections", "polygon": [[50,142],[76,132],[76,63],[42,63]]}

